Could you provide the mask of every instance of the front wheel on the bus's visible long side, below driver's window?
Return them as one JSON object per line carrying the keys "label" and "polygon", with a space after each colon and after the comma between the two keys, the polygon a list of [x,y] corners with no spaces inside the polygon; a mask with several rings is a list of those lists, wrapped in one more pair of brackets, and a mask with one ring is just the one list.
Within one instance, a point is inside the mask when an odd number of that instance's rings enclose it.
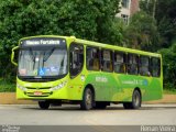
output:
{"label": "front wheel on the bus's visible long side, below driver's window", "polygon": [[94,94],[90,88],[86,88],[84,91],[84,97],[80,102],[80,108],[82,110],[90,110],[94,103]]}

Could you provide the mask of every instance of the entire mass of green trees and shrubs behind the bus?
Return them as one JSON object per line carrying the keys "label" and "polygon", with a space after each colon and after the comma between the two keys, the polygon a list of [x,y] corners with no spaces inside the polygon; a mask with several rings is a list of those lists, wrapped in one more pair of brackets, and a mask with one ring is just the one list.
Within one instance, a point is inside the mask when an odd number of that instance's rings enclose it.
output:
{"label": "entire mass of green trees and shrubs behind the bus", "polygon": [[176,88],[176,1],[142,0],[129,24],[119,0],[0,0],[0,91],[14,91],[11,48],[31,35],[75,35],[163,54],[164,86]]}

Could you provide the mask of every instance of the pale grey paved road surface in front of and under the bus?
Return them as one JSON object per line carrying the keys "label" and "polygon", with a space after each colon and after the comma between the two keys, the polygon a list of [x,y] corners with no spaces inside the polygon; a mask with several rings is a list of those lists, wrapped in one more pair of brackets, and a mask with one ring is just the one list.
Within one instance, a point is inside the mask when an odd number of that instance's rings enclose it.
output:
{"label": "pale grey paved road surface in front of and under the bus", "polygon": [[106,110],[82,111],[79,106],[52,107],[0,105],[0,124],[14,125],[176,125],[176,105],[143,105],[124,110],[121,105]]}

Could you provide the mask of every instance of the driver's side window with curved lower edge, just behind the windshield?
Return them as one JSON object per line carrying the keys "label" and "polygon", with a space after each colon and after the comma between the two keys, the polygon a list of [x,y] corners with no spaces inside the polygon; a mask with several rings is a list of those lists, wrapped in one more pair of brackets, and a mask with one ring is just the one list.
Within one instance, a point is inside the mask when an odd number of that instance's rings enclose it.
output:
{"label": "driver's side window with curved lower edge, just behind the windshield", "polygon": [[78,75],[84,66],[84,46],[79,44],[72,44],[69,52],[70,76]]}

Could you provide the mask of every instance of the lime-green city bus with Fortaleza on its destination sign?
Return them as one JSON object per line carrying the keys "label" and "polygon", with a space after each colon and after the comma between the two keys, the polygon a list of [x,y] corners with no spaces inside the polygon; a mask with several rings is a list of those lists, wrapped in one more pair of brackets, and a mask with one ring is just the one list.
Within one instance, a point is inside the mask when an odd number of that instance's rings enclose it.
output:
{"label": "lime-green city bus with Fortaleza on its destination sign", "polygon": [[138,109],[163,96],[162,56],[155,53],[40,35],[21,38],[11,62],[18,66],[16,98],[36,100],[41,109],[62,103],[84,110],[110,103]]}

